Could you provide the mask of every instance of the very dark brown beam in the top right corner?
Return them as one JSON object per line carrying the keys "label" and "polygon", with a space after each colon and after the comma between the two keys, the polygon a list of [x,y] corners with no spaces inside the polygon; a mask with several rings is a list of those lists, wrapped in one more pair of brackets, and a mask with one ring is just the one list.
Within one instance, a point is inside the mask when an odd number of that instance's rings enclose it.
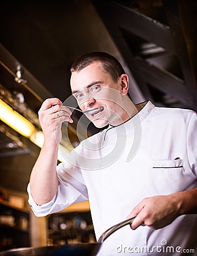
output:
{"label": "very dark brown beam in the top right corner", "polygon": [[169,22],[175,52],[181,64],[185,84],[197,100],[197,3],[193,0],[162,0]]}

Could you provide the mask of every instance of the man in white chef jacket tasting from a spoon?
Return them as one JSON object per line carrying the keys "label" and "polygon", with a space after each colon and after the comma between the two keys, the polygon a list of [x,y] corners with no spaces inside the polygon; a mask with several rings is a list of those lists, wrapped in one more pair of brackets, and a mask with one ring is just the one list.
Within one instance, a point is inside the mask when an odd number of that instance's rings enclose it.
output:
{"label": "man in white chef jacket tasting from a spoon", "polygon": [[36,216],[89,200],[97,239],[135,217],[103,242],[99,255],[197,255],[197,116],[158,108],[128,96],[128,76],[115,57],[91,52],[71,68],[72,95],[97,134],[57,166],[61,125],[72,112],[58,98],[39,110],[44,145],[33,166],[28,195]]}

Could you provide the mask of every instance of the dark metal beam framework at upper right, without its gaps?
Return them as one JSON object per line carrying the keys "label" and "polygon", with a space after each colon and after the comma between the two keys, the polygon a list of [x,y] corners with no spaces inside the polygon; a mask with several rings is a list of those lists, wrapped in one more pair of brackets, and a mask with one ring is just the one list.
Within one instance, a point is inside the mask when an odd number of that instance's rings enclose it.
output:
{"label": "dark metal beam framework at upper right, without its gaps", "polygon": [[[181,53],[177,52],[177,49],[175,49],[177,44],[174,43],[176,37],[174,38],[172,36],[174,32],[172,28],[166,27],[155,20],[139,14],[116,1],[111,0],[106,3],[93,0],[92,2],[110,32],[116,46],[119,48],[121,55],[123,55],[129,69],[131,69],[144,96],[153,101],[149,86],[147,86],[150,84],[161,92],[165,92],[166,94],[173,96],[179,102],[182,102],[184,107],[188,106],[188,108],[197,110],[194,84],[190,85],[188,90],[189,80],[181,80],[172,73],[149,64],[145,59],[142,59],[139,56],[134,56],[131,48],[129,48],[130,42],[128,38],[125,38],[121,33],[121,28],[124,28],[124,30],[133,35],[164,47],[168,51],[171,51],[175,56],[178,56],[182,64],[181,67],[183,68],[184,60],[188,57],[187,52],[183,53],[186,57],[181,59]],[[177,20],[177,23],[179,23],[179,20]],[[182,39],[180,38],[180,40]],[[181,44],[184,44],[184,42],[181,42]],[[186,49],[183,50],[186,51]],[[191,68],[188,61],[185,63],[184,67],[185,77],[186,68]]]}

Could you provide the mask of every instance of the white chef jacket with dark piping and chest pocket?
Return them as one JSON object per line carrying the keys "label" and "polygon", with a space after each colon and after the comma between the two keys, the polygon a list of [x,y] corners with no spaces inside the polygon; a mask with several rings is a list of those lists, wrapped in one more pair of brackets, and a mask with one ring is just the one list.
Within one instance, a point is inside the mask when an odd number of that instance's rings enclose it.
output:
{"label": "white chef jacket with dark piping and chest pocket", "polygon": [[[89,200],[97,239],[125,220],[145,197],[197,187],[197,116],[192,110],[158,108],[152,102],[119,126],[109,126],[81,142],[68,161],[57,166],[56,196],[38,206],[36,216]],[[99,255],[197,255],[197,214],[179,216],[165,228],[129,225],[103,242]],[[187,251],[188,252],[188,251]],[[191,251],[190,251],[191,252]]]}

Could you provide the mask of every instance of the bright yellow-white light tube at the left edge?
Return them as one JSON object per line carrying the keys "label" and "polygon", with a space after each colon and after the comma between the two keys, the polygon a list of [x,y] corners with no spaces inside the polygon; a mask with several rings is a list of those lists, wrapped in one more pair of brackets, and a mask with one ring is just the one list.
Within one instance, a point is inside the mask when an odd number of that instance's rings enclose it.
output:
{"label": "bright yellow-white light tube at the left edge", "polygon": [[29,138],[35,126],[30,121],[20,115],[18,112],[13,110],[9,105],[0,99],[0,119],[9,125],[12,129]]}

